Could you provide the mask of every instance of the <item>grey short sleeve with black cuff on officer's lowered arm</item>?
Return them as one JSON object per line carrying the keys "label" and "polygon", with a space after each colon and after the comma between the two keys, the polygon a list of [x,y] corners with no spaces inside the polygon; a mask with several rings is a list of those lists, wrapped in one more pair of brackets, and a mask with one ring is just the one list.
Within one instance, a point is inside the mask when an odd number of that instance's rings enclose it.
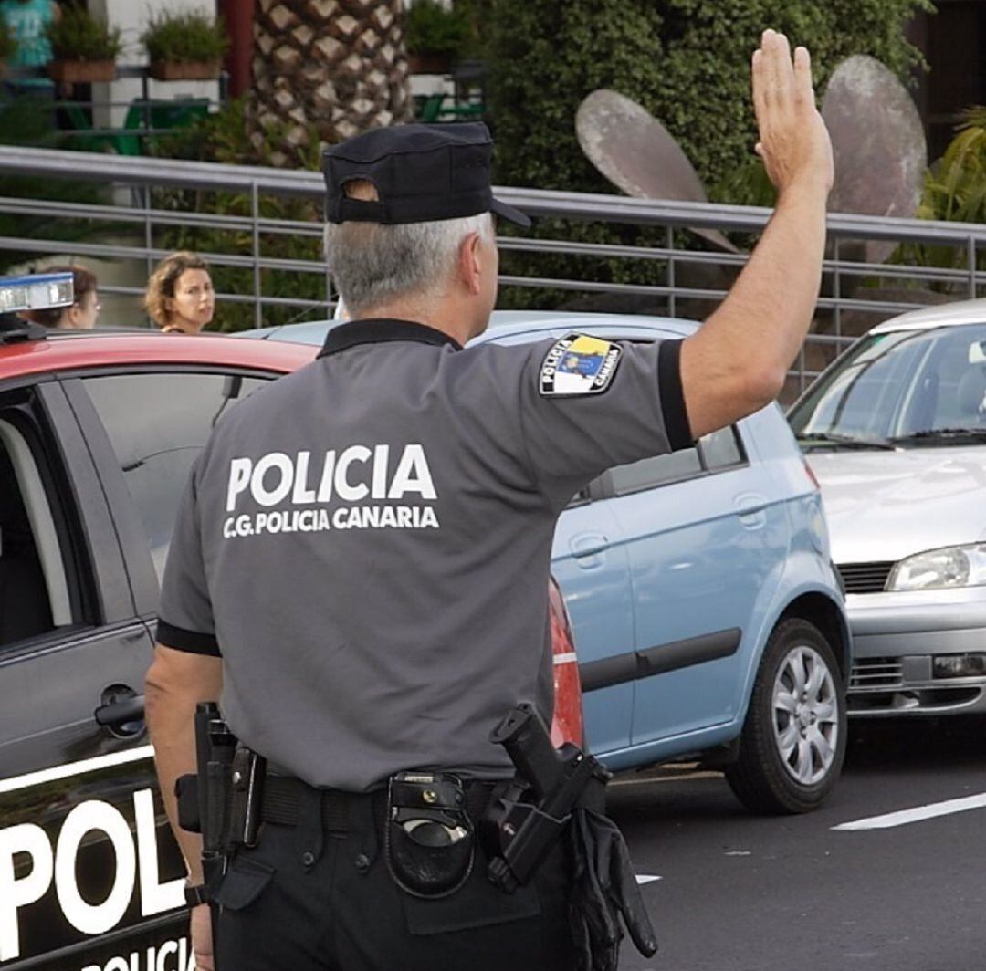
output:
{"label": "grey short sleeve with black cuff on officer's lowered arm", "polygon": [[177,651],[219,657],[198,521],[200,459],[201,456],[192,465],[178,508],[175,533],[161,582],[157,639],[165,647]]}

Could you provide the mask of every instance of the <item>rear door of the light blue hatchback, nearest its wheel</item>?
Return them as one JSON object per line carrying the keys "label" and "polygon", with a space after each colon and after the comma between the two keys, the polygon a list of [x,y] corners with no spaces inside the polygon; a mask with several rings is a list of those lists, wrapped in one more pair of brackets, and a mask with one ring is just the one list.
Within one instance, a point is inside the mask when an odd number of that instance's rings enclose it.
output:
{"label": "rear door of the light blue hatchback, nearest its wheel", "polygon": [[787,551],[784,509],[743,434],[726,428],[605,477],[633,586],[635,745],[737,715],[751,618]]}

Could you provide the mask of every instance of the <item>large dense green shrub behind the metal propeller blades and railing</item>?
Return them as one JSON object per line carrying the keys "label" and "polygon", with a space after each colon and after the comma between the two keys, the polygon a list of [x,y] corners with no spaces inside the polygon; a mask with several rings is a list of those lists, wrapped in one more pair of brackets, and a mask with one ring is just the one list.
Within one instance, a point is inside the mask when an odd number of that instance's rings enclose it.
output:
{"label": "large dense green shrub behind the metal propeller blades and railing", "polygon": [[[643,104],[678,141],[708,191],[731,196],[728,176],[755,158],[749,59],[772,27],[812,54],[817,90],[850,54],[872,54],[904,79],[923,64],[903,35],[928,0],[491,0],[484,33],[497,182],[534,188],[616,192],[579,146],[575,116],[592,91],[609,88]],[[758,165],[758,163],[756,163]],[[723,187],[720,194],[720,186]],[[663,231],[538,221],[538,237],[597,243],[664,244]],[[682,236],[688,245],[699,245]],[[575,261],[506,253],[504,272],[528,276],[662,283],[663,265],[643,260]],[[538,302],[542,295],[535,295]],[[508,301],[529,298],[508,296]],[[527,299],[528,304],[531,303]]]}

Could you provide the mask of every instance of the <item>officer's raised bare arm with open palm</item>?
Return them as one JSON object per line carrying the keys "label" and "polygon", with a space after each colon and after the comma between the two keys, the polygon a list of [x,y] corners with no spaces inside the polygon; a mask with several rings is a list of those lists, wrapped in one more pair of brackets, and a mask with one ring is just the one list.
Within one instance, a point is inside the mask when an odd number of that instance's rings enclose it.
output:
{"label": "officer's raised bare arm with open palm", "polygon": [[780,393],[811,322],[821,278],[832,150],[815,108],[808,51],[792,65],[784,35],[753,54],[757,151],[777,208],[729,296],[681,346],[681,385],[699,438]]}

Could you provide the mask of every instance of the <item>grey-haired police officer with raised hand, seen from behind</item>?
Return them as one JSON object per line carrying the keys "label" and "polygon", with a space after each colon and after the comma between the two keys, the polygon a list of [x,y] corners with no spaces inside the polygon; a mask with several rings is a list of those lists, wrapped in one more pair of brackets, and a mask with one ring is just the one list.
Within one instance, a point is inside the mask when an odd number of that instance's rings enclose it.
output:
{"label": "grey-haired police officer with raised hand, seen from behind", "polygon": [[[484,126],[381,129],[326,153],[326,251],[352,319],[197,460],[147,681],[173,820],[196,702],[221,697],[267,760],[257,845],[210,891],[220,971],[572,966],[562,851],[503,893],[472,809],[512,774],[489,738],[501,716],[528,702],[550,721],[547,577],[569,498],[771,401],[804,340],[832,180],[808,52],[766,32],[753,99],[774,216],[700,330],[654,346],[463,349],[496,297],[491,213],[528,222],[492,197]],[[435,772],[469,809],[422,831],[462,850],[446,884],[395,858],[385,822],[388,798]],[[178,838],[197,883],[198,846]],[[194,907],[200,968],[209,925]]]}

